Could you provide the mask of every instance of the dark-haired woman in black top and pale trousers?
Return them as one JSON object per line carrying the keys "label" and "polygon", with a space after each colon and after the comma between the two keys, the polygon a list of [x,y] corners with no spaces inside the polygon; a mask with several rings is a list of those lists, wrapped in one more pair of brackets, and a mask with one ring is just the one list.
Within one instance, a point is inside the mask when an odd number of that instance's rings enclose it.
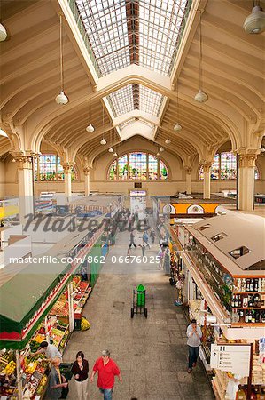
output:
{"label": "dark-haired woman in black top and pale trousers", "polygon": [[79,400],[88,399],[88,376],[89,376],[89,362],[85,360],[82,351],[76,355],[76,360],[72,366],[72,372],[76,383],[77,396]]}

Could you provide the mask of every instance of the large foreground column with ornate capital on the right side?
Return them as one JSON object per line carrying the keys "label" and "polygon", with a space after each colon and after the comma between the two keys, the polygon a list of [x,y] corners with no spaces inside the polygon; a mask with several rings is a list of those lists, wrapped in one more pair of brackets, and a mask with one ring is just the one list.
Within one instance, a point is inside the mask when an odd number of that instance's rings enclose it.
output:
{"label": "large foreground column with ornate capital on the right side", "polygon": [[257,154],[255,154],[254,152],[245,152],[243,154],[239,153],[239,210],[253,211],[254,208],[254,173],[256,158]]}

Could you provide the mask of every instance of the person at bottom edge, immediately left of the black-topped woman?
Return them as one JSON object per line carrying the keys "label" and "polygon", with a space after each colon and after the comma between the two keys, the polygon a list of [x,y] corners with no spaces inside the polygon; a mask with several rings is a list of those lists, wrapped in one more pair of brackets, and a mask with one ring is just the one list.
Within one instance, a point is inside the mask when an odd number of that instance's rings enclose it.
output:
{"label": "person at bottom edge, immediately left of the black-topped woman", "polygon": [[59,371],[60,363],[61,359],[58,357],[51,360],[51,372],[48,378],[46,399],[57,400],[62,396],[63,388],[68,388],[66,378]]}

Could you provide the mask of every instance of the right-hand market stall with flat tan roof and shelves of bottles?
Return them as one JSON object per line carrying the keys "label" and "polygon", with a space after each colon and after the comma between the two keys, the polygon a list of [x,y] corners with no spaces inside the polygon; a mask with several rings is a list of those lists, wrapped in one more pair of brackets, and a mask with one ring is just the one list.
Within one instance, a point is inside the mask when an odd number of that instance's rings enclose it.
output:
{"label": "right-hand market stall with flat tan roof and shelves of bottles", "polygon": [[[184,291],[190,314],[199,318],[202,329],[210,330],[206,334],[209,339],[201,346],[207,356],[204,360],[204,355],[200,355],[205,364],[211,355],[211,346],[208,351],[205,346],[207,342],[253,345],[252,372],[248,379],[240,380],[242,387],[238,393],[242,399],[252,396],[251,393],[261,395],[265,382],[265,357],[261,350],[265,336],[264,226],[263,220],[256,218],[222,216],[186,226],[182,245],[175,236],[183,249],[187,277]],[[205,304],[205,309],[201,309],[201,304]],[[203,311],[206,324],[200,317]],[[214,369],[214,375],[215,396],[223,400],[233,374],[228,368]]]}

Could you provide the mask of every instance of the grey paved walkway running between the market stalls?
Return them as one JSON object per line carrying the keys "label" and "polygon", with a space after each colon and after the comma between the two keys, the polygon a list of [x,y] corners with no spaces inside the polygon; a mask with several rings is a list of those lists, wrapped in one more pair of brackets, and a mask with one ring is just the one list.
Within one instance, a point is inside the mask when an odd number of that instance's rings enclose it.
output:
{"label": "grey paved walkway running between the market stalls", "polygon": [[[115,400],[212,400],[214,395],[206,372],[199,362],[192,374],[187,369],[186,321],[182,308],[174,306],[175,289],[169,285],[157,264],[116,264],[112,256],[125,256],[129,233],[119,233],[102,273],[90,296],[84,315],[91,328],[74,332],[66,347],[65,362],[73,362],[82,350],[90,363],[90,371],[104,348],[121,368],[123,383],[115,384]],[[138,239],[137,243],[140,243]],[[158,245],[146,255],[156,256]],[[141,248],[132,249],[141,255]],[[148,318],[130,318],[132,291],[144,284],[147,292]],[[89,398],[103,398],[97,380],[90,384]],[[76,399],[74,378],[68,400]]]}

